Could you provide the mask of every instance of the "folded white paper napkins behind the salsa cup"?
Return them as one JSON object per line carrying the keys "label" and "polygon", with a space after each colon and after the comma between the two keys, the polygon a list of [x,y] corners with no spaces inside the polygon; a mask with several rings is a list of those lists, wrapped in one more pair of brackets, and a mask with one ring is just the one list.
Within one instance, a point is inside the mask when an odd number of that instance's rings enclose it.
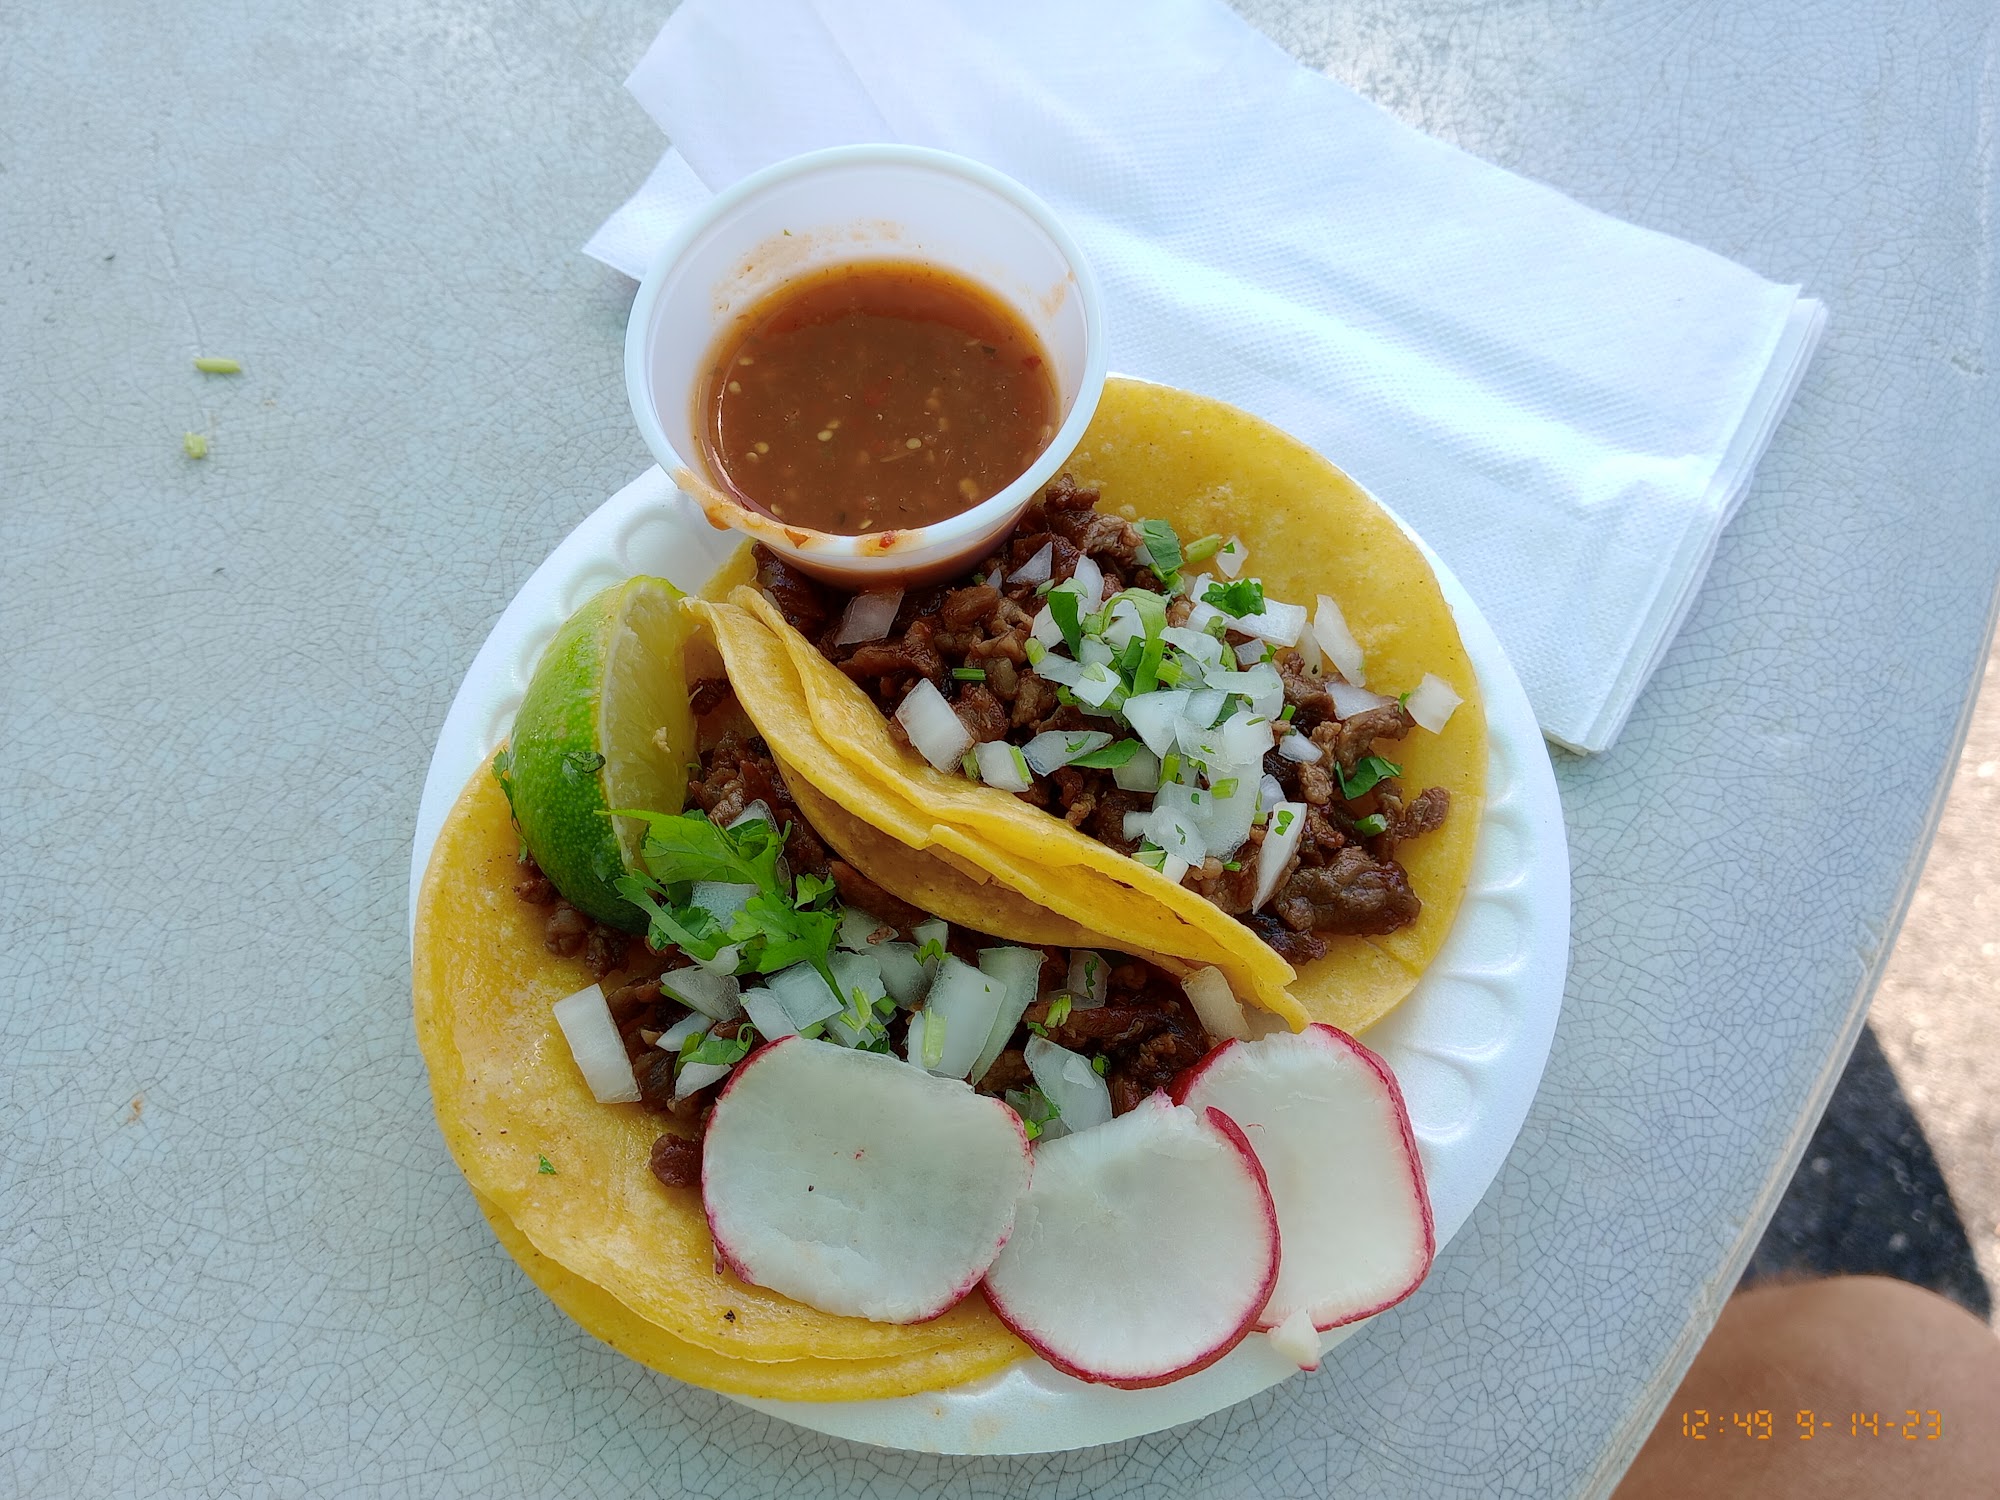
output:
{"label": "folded white paper napkins behind the salsa cup", "polygon": [[1542,730],[1602,750],[1824,310],[1394,120],[1216,0],[688,0],[626,82],[670,150],[586,250],[820,146],[976,156],[1104,284],[1110,362],[1298,434],[1466,582]]}

